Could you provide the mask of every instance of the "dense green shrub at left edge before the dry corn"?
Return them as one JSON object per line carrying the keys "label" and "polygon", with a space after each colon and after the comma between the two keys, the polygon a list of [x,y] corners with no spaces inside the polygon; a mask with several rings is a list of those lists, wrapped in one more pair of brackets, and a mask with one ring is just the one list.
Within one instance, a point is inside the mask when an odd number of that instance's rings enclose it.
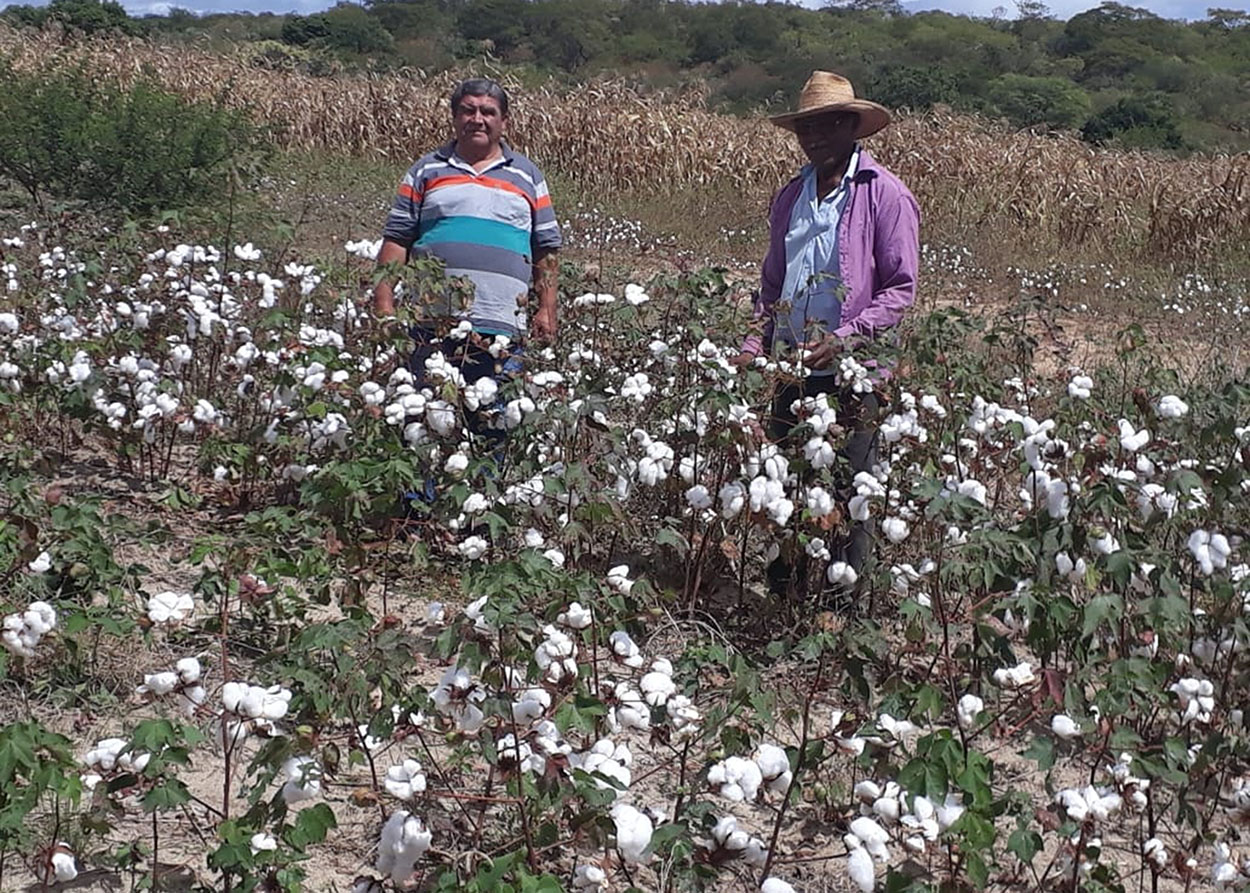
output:
{"label": "dense green shrub at left edge before the dry corn", "polygon": [[241,110],[150,81],[121,86],[81,70],[0,68],[0,175],[49,194],[131,211],[210,198],[261,145]]}

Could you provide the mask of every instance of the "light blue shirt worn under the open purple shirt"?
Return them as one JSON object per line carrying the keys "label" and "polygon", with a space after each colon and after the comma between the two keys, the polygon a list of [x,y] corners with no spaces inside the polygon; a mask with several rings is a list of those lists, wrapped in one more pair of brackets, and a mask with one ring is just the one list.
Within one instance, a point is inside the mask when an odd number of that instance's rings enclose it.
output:
{"label": "light blue shirt worn under the open purple shirt", "polygon": [[840,270],[838,264],[838,224],[850,198],[851,181],[859,169],[859,146],[851,151],[841,183],[820,200],[816,195],[816,169],[805,165],[802,191],[790,211],[785,234],[785,283],[780,300],[789,303],[789,315],[779,315],[776,338],[794,346],[828,334],[841,323]]}

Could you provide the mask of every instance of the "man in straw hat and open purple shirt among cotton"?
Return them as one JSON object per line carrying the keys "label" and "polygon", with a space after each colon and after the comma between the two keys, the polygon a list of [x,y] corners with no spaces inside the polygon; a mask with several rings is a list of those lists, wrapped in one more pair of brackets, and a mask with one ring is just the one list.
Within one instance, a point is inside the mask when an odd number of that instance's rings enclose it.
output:
{"label": "man in straw hat and open purple shirt among cotton", "polygon": [[[806,375],[779,384],[770,434],[788,438],[800,396],[824,393],[836,399],[839,423],[850,431],[840,482],[849,498],[854,475],[871,472],[876,462],[881,399],[875,390],[842,386],[839,365],[856,348],[862,354],[868,343],[888,334],[915,301],[920,209],[902,181],[859,145],[889,125],[890,114],[856,99],[845,78],[812,73],[799,109],[771,121],[799,138],[809,164],[772,199],[755,303],[758,330],[742,343],[736,363],[752,363],[778,341],[802,351]],[[889,376],[886,365],[862,356],[860,361],[878,380]],[[858,573],[871,543],[870,524],[854,523],[829,549],[834,562]],[[806,588],[795,579],[794,567],[782,558],[769,568],[774,592]]]}

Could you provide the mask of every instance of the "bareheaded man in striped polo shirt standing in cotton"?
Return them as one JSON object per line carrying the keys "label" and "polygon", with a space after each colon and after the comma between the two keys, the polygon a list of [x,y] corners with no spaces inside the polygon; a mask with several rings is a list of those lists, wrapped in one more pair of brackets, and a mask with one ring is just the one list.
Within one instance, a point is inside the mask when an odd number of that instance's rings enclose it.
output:
{"label": "bareheaded man in striped polo shirt standing in cotton", "polygon": [[[410,254],[436,256],[449,279],[464,278],[472,285],[468,310],[452,305],[450,290],[428,308],[431,325],[414,333],[418,375],[424,371],[420,354],[432,353],[422,346],[438,340],[439,321],[459,316],[472,324],[478,338],[470,336],[456,358],[469,381],[498,371],[474,355],[485,353],[472,349],[474,343],[481,348],[480,336],[509,335],[515,341],[526,330],[538,339],[555,335],[560,228],[542,173],[504,141],[506,124],[508,94],[499,84],[488,79],[460,84],[451,94],[452,140],[418,159],[386,219],[379,265],[404,263]],[[538,311],[528,321],[531,284]],[[394,311],[394,285],[380,281],[374,313],[385,318]]]}

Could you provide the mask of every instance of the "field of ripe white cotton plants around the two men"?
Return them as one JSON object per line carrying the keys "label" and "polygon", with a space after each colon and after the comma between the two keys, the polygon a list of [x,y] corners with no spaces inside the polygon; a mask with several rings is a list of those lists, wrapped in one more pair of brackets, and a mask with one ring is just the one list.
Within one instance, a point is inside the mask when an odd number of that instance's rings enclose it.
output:
{"label": "field of ripe white cotton plants around the two men", "polygon": [[848,479],[718,270],[570,273],[496,385],[368,236],[0,235],[0,887],[1250,888],[1235,358],[916,311]]}

